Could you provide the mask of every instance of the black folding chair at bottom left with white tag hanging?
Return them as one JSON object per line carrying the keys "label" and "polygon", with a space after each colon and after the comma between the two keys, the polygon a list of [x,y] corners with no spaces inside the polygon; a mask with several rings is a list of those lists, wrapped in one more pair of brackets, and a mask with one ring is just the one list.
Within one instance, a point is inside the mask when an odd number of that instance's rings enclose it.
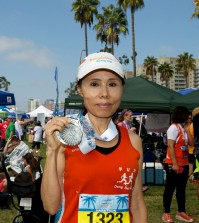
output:
{"label": "black folding chair at bottom left with white tag hanging", "polygon": [[[13,223],[20,222],[19,219],[22,219],[21,222],[24,223],[48,223],[49,214],[44,211],[40,196],[42,173],[40,172],[40,177],[34,182],[14,182],[10,179],[4,161],[3,157],[2,168],[7,179],[7,192],[11,195],[13,207],[18,211]],[[32,202],[32,205],[29,208],[22,207],[23,201],[26,201],[25,203]]]}

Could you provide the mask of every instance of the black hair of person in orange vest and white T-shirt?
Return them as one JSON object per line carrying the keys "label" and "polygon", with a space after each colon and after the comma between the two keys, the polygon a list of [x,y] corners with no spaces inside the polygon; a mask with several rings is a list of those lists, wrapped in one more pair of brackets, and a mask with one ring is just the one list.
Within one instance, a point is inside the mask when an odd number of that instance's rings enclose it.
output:
{"label": "black hair of person in orange vest and white T-shirt", "polygon": [[172,121],[173,123],[183,124],[190,116],[189,110],[184,106],[177,106],[174,110]]}

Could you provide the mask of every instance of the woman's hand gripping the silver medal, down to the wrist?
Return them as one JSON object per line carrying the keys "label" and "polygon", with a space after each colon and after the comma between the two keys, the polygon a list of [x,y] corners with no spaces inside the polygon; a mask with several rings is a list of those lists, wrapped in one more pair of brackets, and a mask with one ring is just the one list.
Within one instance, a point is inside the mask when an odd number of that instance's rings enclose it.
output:
{"label": "woman's hand gripping the silver medal, down to the wrist", "polygon": [[57,150],[62,144],[57,139],[55,132],[62,131],[63,128],[68,128],[70,119],[66,117],[53,118],[48,124],[45,125],[45,139],[48,150]]}

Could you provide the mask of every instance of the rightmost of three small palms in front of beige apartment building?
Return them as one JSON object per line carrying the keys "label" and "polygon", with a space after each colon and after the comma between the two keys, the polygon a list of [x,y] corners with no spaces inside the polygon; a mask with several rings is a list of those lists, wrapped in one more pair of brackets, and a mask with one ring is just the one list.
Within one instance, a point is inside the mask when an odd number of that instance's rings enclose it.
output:
{"label": "rightmost of three small palms in front of beige apartment building", "polygon": [[184,74],[186,81],[186,88],[188,88],[190,72],[196,70],[196,60],[193,58],[193,55],[192,54],[189,55],[188,52],[178,55],[175,69],[178,73],[182,72]]}

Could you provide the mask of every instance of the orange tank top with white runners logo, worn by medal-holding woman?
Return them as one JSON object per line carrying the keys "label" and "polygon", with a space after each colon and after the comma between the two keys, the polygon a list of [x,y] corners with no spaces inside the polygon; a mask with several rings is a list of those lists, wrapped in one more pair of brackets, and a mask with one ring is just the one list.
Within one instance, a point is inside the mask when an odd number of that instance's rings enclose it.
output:
{"label": "orange tank top with white runners logo, worn by medal-holding woman", "polygon": [[[64,193],[58,222],[96,223],[93,215],[104,222],[110,219],[120,222],[122,209],[115,214],[111,208],[116,205],[117,208],[122,208],[127,200],[128,220],[123,222],[132,221],[131,194],[140,154],[132,146],[128,131],[122,127],[118,129],[120,140],[116,149],[107,155],[97,150],[84,155],[78,147],[66,148]],[[99,206],[97,203],[100,203],[102,210],[96,213],[91,208]],[[111,211],[107,213],[109,208]]]}

